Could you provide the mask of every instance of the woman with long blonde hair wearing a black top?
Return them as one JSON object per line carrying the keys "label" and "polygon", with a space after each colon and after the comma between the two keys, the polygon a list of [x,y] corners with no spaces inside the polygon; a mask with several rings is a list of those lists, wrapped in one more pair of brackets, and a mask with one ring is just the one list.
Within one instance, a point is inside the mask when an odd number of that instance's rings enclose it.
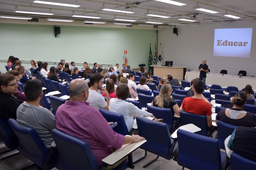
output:
{"label": "woman with long blonde hair wearing a black top", "polygon": [[176,113],[176,115],[180,115],[180,108],[177,102],[171,97],[171,95],[172,85],[167,83],[164,84],[160,90],[159,95],[153,99],[151,106],[170,108],[172,110],[172,116],[174,116],[174,113]]}

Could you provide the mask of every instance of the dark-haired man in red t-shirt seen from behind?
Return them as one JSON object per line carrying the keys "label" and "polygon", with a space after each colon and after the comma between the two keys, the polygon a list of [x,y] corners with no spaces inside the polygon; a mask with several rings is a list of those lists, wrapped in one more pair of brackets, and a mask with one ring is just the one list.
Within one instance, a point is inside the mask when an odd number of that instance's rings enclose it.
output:
{"label": "dark-haired man in red t-shirt seen from behind", "polygon": [[186,97],[181,106],[180,110],[189,112],[196,115],[206,115],[206,121],[208,127],[212,127],[212,108],[202,99],[202,92],[204,92],[204,82],[196,80],[193,88],[194,96]]}

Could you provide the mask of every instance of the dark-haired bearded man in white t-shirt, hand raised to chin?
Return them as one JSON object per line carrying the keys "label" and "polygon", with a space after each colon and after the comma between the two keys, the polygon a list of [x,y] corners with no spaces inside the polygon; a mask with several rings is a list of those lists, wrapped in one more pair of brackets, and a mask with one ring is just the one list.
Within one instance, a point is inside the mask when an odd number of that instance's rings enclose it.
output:
{"label": "dark-haired bearded man in white t-shirt, hand raised to chin", "polygon": [[[109,105],[109,94],[105,88],[102,88],[103,85],[103,78],[104,76],[100,74],[92,74],[90,77],[90,95],[87,99],[87,102],[90,103],[90,106],[100,109],[103,108],[105,110],[108,110]],[[107,96],[107,102],[105,101],[104,97],[101,95],[101,92],[104,92]]]}

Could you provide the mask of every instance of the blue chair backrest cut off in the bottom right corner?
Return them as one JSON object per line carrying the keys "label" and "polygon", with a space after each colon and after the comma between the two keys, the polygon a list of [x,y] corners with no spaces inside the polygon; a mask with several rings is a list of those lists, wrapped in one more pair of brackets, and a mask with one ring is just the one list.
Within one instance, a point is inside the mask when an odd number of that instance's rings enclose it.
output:
{"label": "blue chair backrest cut off in the bottom right corner", "polygon": [[256,169],[256,162],[247,159],[241,155],[238,155],[237,153],[233,152],[230,156],[230,165],[232,170],[240,170],[240,169],[246,169],[246,170],[255,170]]}

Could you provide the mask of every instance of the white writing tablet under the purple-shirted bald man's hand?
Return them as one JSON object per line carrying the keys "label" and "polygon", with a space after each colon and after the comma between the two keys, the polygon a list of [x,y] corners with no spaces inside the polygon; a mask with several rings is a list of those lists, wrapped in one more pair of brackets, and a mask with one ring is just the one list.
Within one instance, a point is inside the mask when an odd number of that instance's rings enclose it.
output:
{"label": "white writing tablet under the purple-shirted bald man's hand", "polygon": [[[129,135],[126,135],[126,136],[129,136]],[[147,142],[147,140],[142,140],[137,143],[131,143],[131,144],[127,144],[125,146],[123,145],[124,147],[116,150],[112,154],[108,155],[106,158],[102,159],[102,162],[112,166],[119,160],[123,159],[124,157],[126,157],[127,155],[132,153],[134,150],[138,149],[142,144],[144,144],[146,142]]]}

